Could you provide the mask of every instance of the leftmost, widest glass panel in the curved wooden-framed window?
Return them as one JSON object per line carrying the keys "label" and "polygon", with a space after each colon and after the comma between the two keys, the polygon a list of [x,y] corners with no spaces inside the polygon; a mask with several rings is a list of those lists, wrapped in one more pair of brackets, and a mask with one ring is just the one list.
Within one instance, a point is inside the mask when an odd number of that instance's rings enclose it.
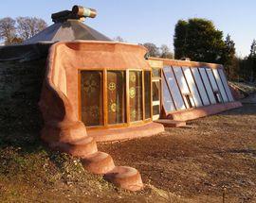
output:
{"label": "leftmost, widest glass panel in the curved wooden-framed window", "polygon": [[102,72],[82,71],[82,122],[86,127],[103,125]]}

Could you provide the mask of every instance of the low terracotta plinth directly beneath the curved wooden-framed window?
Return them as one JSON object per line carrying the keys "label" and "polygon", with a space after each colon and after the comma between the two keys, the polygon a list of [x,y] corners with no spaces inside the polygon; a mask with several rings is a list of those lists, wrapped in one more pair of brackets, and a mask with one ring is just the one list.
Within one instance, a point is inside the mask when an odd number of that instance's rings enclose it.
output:
{"label": "low terracotta plinth directly beneath the curved wooden-framed window", "polygon": [[96,142],[108,142],[149,137],[163,131],[164,127],[161,124],[151,122],[149,124],[134,127],[87,129],[87,134],[92,136]]}

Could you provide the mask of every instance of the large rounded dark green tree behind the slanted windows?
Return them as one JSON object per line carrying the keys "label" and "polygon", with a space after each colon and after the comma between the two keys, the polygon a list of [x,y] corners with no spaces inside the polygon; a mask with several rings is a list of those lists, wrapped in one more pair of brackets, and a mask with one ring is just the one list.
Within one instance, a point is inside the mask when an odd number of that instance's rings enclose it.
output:
{"label": "large rounded dark green tree behind the slanted windows", "polygon": [[192,18],[180,20],[175,25],[175,59],[220,63],[224,51],[223,32],[217,30],[211,21]]}

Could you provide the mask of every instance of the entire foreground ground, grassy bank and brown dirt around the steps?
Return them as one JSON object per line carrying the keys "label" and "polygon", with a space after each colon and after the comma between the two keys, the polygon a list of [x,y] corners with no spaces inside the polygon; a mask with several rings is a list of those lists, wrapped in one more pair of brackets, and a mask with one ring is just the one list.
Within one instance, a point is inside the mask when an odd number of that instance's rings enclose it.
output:
{"label": "entire foreground ground, grassy bank and brown dirt around the steps", "polygon": [[81,162],[52,152],[38,132],[0,132],[0,202],[256,202],[256,106],[167,128],[150,138],[99,144],[146,185],[120,190]]}

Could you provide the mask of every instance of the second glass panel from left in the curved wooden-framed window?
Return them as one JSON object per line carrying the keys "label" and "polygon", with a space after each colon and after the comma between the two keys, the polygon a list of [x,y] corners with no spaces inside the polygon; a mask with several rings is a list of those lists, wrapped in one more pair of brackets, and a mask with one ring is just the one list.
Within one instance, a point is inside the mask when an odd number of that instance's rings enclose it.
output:
{"label": "second glass panel from left in the curved wooden-framed window", "polygon": [[107,72],[108,124],[125,123],[125,74],[123,71]]}

